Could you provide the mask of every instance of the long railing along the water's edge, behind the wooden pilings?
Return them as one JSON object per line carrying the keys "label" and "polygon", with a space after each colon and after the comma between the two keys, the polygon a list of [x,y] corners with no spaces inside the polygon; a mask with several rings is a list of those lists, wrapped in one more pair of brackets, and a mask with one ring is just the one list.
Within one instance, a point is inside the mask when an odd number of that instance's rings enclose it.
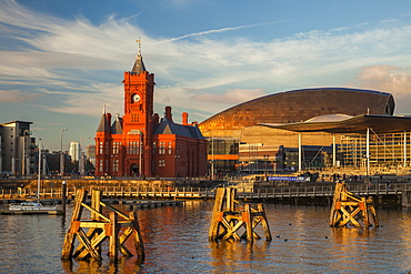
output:
{"label": "long railing along the water's edge, behind the wooden pilings", "polygon": [[[235,186],[234,186],[235,187]],[[212,199],[215,189],[208,187],[176,187],[176,186],[84,186],[90,191],[98,189],[104,197],[123,199]],[[76,186],[68,186],[67,196],[73,196]],[[401,195],[402,192],[411,191],[410,183],[379,183],[379,184],[348,184],[348,190],[355,195]],[[239,199],[283,199],[283,197],[321,197],[332,196],[334,193],[333,183],[323,183],[300,186],[265,186],[258,187],[238,187],[237,196]],[[21,190],[1,190],[2,199],[26,199],[36,197],[37,192],[33,189]],[[41,189],[41,199],[60,199],[61,187]]]}

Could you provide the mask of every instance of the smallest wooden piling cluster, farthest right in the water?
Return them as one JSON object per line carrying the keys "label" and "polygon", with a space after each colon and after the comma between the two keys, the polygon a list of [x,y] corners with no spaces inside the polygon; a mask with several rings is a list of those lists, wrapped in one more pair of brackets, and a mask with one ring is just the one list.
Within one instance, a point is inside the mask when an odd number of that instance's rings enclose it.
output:
{"label": "smallest wooden piling cluster, farthest right in the water", "polygon": [[378,217],[372,197],[359,197],[347,191],[345,183],[335,183],[331,206],[330,226],[342,227],[378,226]]}

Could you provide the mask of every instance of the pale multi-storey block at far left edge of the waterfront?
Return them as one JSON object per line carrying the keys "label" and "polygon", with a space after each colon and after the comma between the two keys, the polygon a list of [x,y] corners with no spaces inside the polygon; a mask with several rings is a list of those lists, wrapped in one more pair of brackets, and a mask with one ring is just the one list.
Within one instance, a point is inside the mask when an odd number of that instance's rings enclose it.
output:
{"label": "pale multi-storey block at far left edge of the waterfront", "polygon": [[3,175],[30,175],[37,172],[36,139],[32,122],[12,121],[0,124],[0,171]]}

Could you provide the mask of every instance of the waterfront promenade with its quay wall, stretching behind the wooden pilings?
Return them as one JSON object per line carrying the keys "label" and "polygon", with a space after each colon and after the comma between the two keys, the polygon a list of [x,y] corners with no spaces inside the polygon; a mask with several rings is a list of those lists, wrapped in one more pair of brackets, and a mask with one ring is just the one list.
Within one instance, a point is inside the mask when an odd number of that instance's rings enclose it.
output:
{"label": "waterfront promenade with its quay wall, stretching behind the wooden pilings", "polygon": [[[237,187],[237,197],[284,203],[330,203],[334,193],[332,182],[255,182],[240,181],[172,181],[172,180],[64,180],[67,196],[73,197],[77,189],[100,190],[106,199],[213,199],[218,186]],[[36,197],[37,180],[14,182],[16,187],[1,189],[0,199],[22,200]],[[20,186],[17,186],[20,185]],[[61,199],[62,180],[41,180],[41,199]],[[373,196],[379,204],[411,206],[411,183],[387,181],[348,183],[355,195]]]}

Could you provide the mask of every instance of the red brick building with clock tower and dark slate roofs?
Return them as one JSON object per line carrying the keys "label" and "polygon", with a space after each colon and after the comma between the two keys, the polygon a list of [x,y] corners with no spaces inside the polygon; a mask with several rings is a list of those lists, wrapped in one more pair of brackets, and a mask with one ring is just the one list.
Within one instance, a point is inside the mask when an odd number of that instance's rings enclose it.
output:
{"label": "red brick building with clock tower and dark slate roofs", "polygon": [[103,111],[96,133],[96,175],[203,176],[208,141],[197,124],[174,123],[171,106],[160,120],[153,113],[154,74],[146,70],[140,52],[124,72],[124,114],[112,120]]}

